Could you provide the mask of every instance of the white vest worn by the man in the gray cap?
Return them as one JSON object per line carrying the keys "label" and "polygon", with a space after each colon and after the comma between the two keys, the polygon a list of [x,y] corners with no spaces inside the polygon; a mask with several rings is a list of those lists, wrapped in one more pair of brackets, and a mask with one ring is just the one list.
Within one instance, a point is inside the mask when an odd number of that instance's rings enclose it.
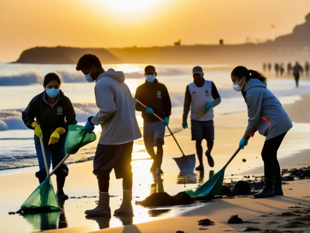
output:
{"label": "white vest worn by the man in the gray cap", "polygon": [[192,96],[191,119],[196,121],[212,120],[214,118],[213,108],[198,118],[201,111],[204,110],[206,104],[213,101],[211,94],[212,82],[205,80],[205,84],[202,87],[197,87],[196,84],[191,83],[188,85],[188,89]]}

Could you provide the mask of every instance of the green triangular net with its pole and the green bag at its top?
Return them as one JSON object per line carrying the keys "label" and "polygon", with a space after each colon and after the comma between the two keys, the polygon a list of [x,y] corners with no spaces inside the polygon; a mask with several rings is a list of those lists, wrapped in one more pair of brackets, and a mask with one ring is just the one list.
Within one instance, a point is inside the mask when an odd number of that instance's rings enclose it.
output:
{"label": "green triangular net with its pole and the green bag at its top", "polygon": [[[96,140],[96,134],[94,132],[87,133],[84,126],[70,125],[68,135],[65,142],[66,157],[60,162],[69,158],[71,154],[78,152],[79,148],[85,146]],[[57,165],[58,166],[60,166]],[[60,211],[60,206],[56,198],[56,194],[51,182],[50,176],[54,174],[57,167],[47,176],[46,180],[42,182],[29,198],[22,204],[20,210],[16,213],[21,215],[37,214],[37,213],[49,213]]]}

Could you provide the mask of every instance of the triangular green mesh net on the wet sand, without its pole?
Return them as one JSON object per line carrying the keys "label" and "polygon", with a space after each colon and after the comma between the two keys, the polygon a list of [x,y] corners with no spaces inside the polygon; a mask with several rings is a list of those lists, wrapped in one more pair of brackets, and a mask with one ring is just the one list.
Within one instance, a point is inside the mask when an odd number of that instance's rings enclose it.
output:
{"label": "triangular green mesh net on the wet sand, without its pole", "polygon": [[60,211],[51,178],[42,182],[21,205],[19,214],[36,214]]}

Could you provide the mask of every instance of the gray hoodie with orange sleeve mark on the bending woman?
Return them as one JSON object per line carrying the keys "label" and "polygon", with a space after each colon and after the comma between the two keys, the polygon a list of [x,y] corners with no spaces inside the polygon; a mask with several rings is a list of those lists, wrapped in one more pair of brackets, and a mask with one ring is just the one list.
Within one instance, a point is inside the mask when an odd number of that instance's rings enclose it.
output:
{"label": "gray hoodie with orange sleeve mark on the bending woman", "polygon": [[277,137],[293,127],[290,117],[282,107],[280,101],[267,89],[267,83],[258,79],[250,79],[244,91],[248,107],[248,126],[246,135],[255,128],[266,140]]}

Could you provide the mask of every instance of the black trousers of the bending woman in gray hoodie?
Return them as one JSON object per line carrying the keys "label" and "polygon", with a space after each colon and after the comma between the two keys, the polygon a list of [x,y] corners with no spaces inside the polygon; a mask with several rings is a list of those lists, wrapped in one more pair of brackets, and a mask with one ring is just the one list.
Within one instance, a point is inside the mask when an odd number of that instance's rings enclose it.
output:
{"label": "black trousers of the bending woman in gray hoodie", "polygon": [[277,159],[277,152],[287,132],[265,141],[262,158],[264,161],[265,179],[273,180],[281,178],[280,164]]}

